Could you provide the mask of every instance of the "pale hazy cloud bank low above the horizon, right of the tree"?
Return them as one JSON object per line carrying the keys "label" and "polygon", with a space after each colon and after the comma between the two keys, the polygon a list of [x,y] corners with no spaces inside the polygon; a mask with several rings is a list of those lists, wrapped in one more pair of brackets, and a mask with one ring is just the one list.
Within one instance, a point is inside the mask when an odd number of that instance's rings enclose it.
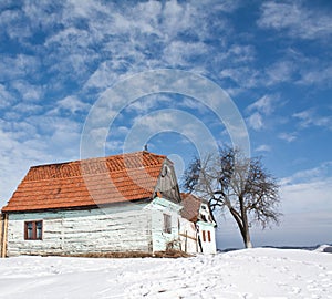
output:
{"label": "pale hazy cloud bank low above the horizon, right of the tree", "polygon": [[332,162],[281,179],[280,226],[252,229],[260,245],[314,246],[330,241],[332,225]]}

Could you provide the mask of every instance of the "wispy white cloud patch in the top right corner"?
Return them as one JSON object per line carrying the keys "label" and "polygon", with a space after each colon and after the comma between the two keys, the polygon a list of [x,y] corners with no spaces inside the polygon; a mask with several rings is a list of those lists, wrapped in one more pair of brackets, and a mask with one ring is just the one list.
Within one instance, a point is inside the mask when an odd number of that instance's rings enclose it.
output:
{"label": "wispy white cloud patch in the top right corner", "polygon": [[292,38],[318,39],[332,32],[332,17],[323,10],[309,9],[301,1],[282,3],[264,2],[258,25],[267,29],[286,30]]}

